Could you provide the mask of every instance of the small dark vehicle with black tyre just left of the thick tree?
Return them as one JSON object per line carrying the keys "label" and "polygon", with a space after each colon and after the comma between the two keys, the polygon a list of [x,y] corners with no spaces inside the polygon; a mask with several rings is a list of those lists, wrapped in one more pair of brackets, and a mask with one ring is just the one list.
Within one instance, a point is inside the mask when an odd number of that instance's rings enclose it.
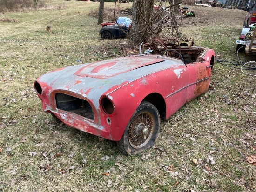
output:
{"label": "small dark vehicle with black tyre just left of the thick tree", "polygon": [[101,35],[102,39],[126,37],[130,32],[130,29],[127,28],[124,24],[120,24],[120,27],[117,24],[104,26],[101,28],[99,34]]}

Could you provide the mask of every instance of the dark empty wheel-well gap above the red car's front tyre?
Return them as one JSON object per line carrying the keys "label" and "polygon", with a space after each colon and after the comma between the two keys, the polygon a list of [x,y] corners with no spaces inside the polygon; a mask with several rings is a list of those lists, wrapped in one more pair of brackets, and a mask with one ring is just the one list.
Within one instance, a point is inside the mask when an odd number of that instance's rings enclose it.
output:
{"label": "dark empty wheel-well gap above the red car's front tyre", "polygon": [[166,105],[165,101],[161,94],[159,93],[151,93],[148,96],[146,96],[143,101],[148,101],[152,105],[156,107],[158,110],[158,113],[161,116],[161,119],[165,119],[166,116]]}

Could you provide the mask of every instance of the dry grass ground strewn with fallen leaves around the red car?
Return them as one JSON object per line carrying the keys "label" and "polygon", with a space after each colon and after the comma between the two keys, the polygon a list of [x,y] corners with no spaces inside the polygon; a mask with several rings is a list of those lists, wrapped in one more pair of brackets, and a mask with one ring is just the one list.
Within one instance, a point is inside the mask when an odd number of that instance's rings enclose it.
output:
{"label": "dry grass ground strewn with fallen leaves around the red car", "polygon": [[[20,22],[1,22],[0,191],[256,191],[256,167],[246,161],[256,155],[256,79],[239,70],[215,63],[210,90],[162,121],[155,147],[133,157],[120,153],[115,142],[99,142],[43,113],[33,88],[40,75],[77,59],[125,54],[115,45],[126,40],[100,39],[101,26],[88,16],[98,3],[49,1],[59,3],[67,8],[9,13]],[[236,59],[234,40],[245,12],[189,8],[196,17],[183,20],[182,32],[196,46]],[[47,25],[53,33],[45,32]],[[242,53],[240,58],[256,60]],[[109,160],[101,160],[106,155]]]}

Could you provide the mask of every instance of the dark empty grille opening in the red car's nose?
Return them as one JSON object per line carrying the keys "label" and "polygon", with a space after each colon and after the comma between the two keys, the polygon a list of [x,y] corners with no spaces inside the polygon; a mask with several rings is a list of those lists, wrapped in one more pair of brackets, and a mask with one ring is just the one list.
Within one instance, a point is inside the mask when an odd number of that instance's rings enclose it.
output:
{"label": "dark empty grille opening in the red car's nose", "polygon": [[55,99],[58,109],[94,120],[94,112],[88,101],[64,93],[56,93]]}

